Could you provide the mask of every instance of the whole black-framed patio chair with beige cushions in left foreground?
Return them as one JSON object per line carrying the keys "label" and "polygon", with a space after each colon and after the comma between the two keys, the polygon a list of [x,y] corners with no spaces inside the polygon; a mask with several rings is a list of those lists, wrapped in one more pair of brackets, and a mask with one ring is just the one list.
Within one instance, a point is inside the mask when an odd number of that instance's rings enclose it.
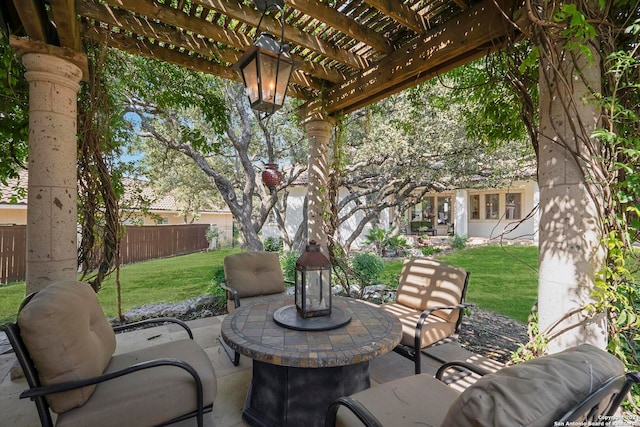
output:
{"label": "whole black-framed patio chair with beige cushions in left foreground", "polygon": [[[176,323],[191,339],[114,354],[115,332]],[[176,319],[112,328],[85,283],[60,281],[29,295],[5,332],[43,426],[143,426],[212,421],[217,392],[209,357]],[[205,413],[207,417],[205,418]]]}

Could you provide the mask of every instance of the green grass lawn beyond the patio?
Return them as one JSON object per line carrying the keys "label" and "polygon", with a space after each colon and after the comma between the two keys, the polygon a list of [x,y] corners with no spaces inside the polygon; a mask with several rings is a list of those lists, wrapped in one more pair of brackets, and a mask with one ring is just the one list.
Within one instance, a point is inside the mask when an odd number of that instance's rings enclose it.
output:
{"label": "green grass lawn beyond the patio", "polygon": [[[153,302],[177,302],[205,293],[213,269],[238,249],[222,249],[126,265],[121,268],[123,311]],[[526,322],[537,295],[537,248],[485,246],[440,257],[471,272],[467,300],[480,308]],[[402,260],[387,261],[381,283],[397,285]],[[0,324],[15,320],[24,283],[0,286]],[[98,293],[105,313],[117,315],[115,280]]]}

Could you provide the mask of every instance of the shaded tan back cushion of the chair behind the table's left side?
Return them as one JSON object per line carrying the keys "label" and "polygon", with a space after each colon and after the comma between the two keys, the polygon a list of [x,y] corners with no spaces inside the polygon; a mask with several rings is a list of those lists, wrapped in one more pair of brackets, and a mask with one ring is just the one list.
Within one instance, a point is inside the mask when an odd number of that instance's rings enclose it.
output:
{"label": "shaded tan back cushion of the chair behind the table's left side", "polygon": [[240,298],[284,292],[284,276],[277,252],[243,252],[224,259],[227,285]]}

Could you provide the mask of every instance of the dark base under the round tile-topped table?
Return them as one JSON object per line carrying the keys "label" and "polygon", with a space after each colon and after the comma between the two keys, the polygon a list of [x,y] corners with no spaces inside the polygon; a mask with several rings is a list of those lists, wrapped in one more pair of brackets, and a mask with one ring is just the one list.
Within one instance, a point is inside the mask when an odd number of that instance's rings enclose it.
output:
{"label": "dark base under the round tile-topped table", "polygon": [[257,427],[322,427],[331,402],[369,386],[369,361],[297,368],[254,360],[242,418]]}

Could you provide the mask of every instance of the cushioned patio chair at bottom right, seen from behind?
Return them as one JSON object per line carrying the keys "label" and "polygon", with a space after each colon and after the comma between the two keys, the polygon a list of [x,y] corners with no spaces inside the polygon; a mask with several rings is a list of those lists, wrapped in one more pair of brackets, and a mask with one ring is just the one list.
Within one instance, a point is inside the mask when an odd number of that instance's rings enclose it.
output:
{"label": "cushioned patio chair at bottom right, seen from behind", "polygon": [[436,378],[412,375],[341,397],[330,405],[325,427],[613,425],[629,389],[640,383],[640,373],[625,374],[618,359],[589,344],[487,374],[462,393],[441,381],[451,367],[483,373],[450,362]]}

